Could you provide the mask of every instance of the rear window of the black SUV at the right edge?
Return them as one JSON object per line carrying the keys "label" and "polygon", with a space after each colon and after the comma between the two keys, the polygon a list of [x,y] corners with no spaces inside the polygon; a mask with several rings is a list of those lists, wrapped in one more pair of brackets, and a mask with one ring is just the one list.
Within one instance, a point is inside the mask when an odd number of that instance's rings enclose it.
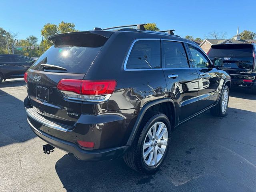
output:
{"label": "rear window of the black SUV at the right edge", "polygon": [[210,49],[209,57],[252,57],[251,44],[215,45]]}

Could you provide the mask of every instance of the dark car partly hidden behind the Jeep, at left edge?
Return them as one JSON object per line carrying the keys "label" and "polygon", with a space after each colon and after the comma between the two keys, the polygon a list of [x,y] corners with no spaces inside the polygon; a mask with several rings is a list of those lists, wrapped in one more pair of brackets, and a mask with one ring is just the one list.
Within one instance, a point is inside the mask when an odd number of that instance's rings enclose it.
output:
{"label": "dark car partly hidden behind the Jeep, at left edge", "polygon": [[22,55],[0,54],[0,83],[6,79],[23,77],[33,62],[33,59]]}

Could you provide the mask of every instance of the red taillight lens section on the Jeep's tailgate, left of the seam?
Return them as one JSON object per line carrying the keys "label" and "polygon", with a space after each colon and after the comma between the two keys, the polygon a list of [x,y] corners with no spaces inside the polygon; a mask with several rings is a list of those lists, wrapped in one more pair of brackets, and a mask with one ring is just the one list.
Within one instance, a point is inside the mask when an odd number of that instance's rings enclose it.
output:
{"label": "red taillight lens section on the Jeep's tailgate, left of the seam", "polygon": [[81,94],[81,84],[80,79],[62,79],[57,85],[58,90],[71,91],[77,94]]}

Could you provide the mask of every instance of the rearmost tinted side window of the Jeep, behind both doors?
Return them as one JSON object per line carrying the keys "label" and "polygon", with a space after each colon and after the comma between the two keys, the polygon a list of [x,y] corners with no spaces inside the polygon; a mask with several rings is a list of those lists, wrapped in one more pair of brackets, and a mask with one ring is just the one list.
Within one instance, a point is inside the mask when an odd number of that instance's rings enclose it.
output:
{"label": "rearmost tinted side window of the Jeep, behind both doors", "polygon": [[127,69],[161,68],[160,40],[139,40],[130,52]]}

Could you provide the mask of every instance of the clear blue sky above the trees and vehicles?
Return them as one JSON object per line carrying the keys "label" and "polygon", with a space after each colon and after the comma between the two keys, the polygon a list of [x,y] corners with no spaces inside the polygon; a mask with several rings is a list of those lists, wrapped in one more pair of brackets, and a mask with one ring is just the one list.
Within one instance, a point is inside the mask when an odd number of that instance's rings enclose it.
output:
{"label": "clear blue sky above the trees and vehicles", "polygon": [[80,31],[154,22],[182,37],[204,38],[215,30],[231,38],[237,26],[256,32],[253,0],[1,0],[0,8],[0,27],[18,32],[18,39],[40,39],[44,24],[62,20]]}

